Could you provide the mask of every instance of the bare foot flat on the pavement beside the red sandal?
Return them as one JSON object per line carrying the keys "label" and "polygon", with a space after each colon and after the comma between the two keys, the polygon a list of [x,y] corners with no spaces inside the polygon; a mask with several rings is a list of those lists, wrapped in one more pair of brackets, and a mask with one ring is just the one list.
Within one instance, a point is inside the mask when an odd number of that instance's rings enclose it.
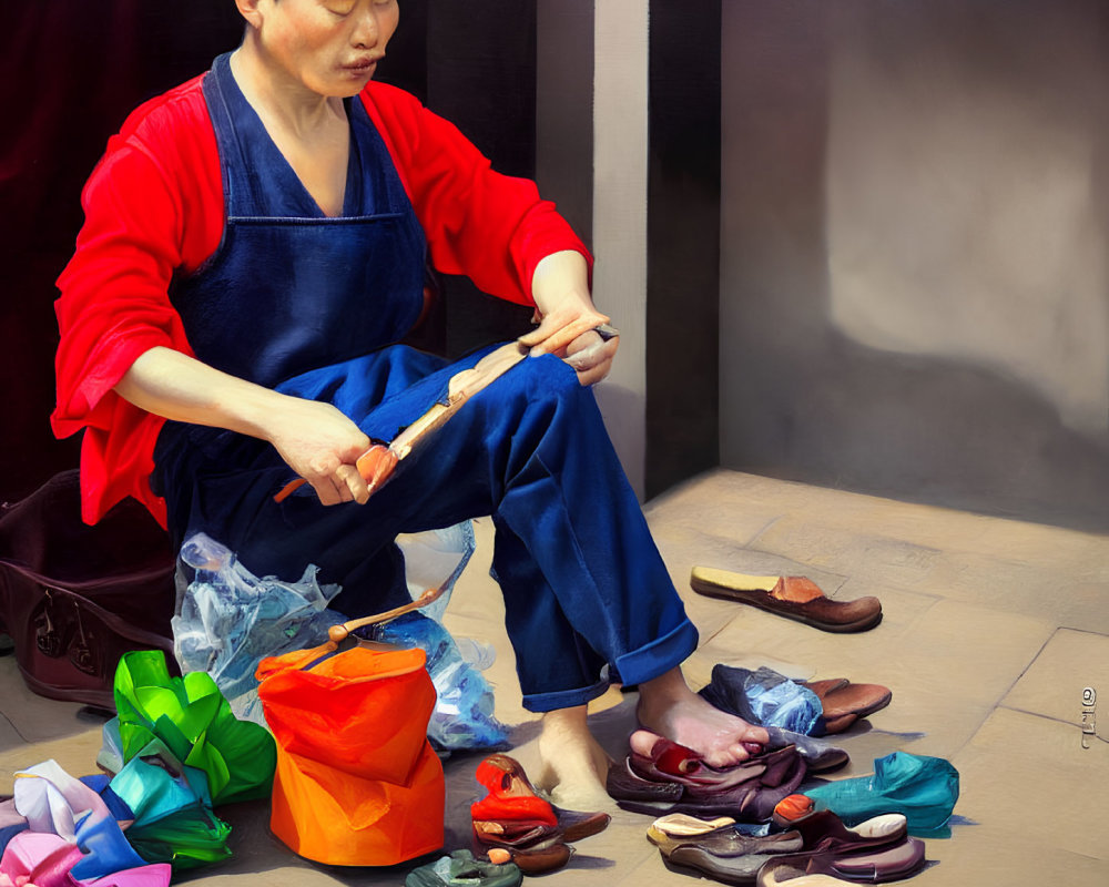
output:
{"label": "bare foot flat on the pavement beside the red sandal", "polygon": [[586,714],[584,705],[576,705],[543,715],[536,787],[563,809],[603,810],[612,806],[604,791],[612,761],[589,732]]}

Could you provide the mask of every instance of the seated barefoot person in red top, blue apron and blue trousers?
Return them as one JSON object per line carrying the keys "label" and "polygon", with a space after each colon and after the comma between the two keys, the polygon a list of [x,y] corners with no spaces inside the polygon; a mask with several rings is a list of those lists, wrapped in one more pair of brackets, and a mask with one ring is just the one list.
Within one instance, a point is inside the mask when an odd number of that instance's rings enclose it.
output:
{"label": "seated barefoot person in red top, blue apron and blue trousers", "polygon": [[[84,429],[87,521],[126,496],[175,547],[204,531],[257,575],[312,562],[348,616],[408,600],[395,538],[491,514],[537,782],[602,791],[586,704],[639,684],[639,718],[713,764],[765,731],[711,707],[680,663],[698,634],[589,387],[590,257],[532,183],[372,78],[396,0],[236,0],[237,50],[136,110],[90,179],[59,278],[58,435]],[[531,356],[369,496],[355,461],[442,395],[455,364],[400,346],[425,257],[535,305]],[[563,358],[563,359],[560,359]],[[308,481],[284,501],[294,477]]]}

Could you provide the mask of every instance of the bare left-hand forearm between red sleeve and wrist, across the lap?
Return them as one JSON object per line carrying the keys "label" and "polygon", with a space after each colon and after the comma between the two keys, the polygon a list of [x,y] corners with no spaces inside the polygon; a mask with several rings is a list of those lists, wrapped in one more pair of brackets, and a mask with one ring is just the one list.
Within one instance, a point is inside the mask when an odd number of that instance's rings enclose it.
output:
{"label": "bare left-hand forearm between red sleeve and wrist, across the lap", "polygon": [[144,351],[115,385],[136,407],[166,419],[226,428],[265,440],[289,398],[228,376],[170,348]]}

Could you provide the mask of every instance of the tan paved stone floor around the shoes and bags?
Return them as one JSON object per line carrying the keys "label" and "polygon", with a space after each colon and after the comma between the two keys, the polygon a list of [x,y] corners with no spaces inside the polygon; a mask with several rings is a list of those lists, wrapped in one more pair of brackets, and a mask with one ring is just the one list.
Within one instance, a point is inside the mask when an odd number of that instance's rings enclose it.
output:
{"label": "tan paved stone floor around the shoes and bags", "polygon": [[[1018,521],[712,471],[653,501],[648,517],[674,582],[701,630],[689,663],[705,683],[713,663],[767,664],[796,677],[845,676],[892,687],[891,706],[842,737],[852,764],[873,771],[896,750],[950,759],[962,797],[950,836],[929,838],[920,887],[1109,883],[1109,538]],[[516,754],[535,761],[535,720],[519,706],[512,654],[487,575],[491,527],[448,611],[457,635],[491,642],[487,675],[498,715],[518,724]],[[873,631],[835,635],[689,591],[690,569],[804,574],[838,599],[878,595]],[[1082,692],[1101,697],[1083,734]],[[633,694],[615,690],[592,720],[622,755]],[[17,769],[53,757],[93,771],[102,716],[29,693],[0,659],[0,793]],[[480,795],[480,756],[447,762],[448,846],[468,844],[467,810]],[[223,807],[235,856],[190,879],[205,885],[399,885],[407,867],[336,869],[291,854],[266,826],[266,805]],[[644,836],[648,817],[618,813],[578,845],[566,887],[685,885]]]}

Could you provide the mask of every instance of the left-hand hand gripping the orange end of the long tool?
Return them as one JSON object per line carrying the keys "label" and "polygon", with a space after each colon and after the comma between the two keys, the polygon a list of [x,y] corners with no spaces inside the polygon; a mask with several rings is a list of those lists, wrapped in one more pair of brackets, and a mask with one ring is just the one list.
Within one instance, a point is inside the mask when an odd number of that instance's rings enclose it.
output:
{"label": "left-hand hand gripping the orange end of the long tool", "polygon": [[365,503],[369,489],[355,462],[369,438],[330,404],[286,397],[267,422],[265,438],[304,478],[325,506]]}

